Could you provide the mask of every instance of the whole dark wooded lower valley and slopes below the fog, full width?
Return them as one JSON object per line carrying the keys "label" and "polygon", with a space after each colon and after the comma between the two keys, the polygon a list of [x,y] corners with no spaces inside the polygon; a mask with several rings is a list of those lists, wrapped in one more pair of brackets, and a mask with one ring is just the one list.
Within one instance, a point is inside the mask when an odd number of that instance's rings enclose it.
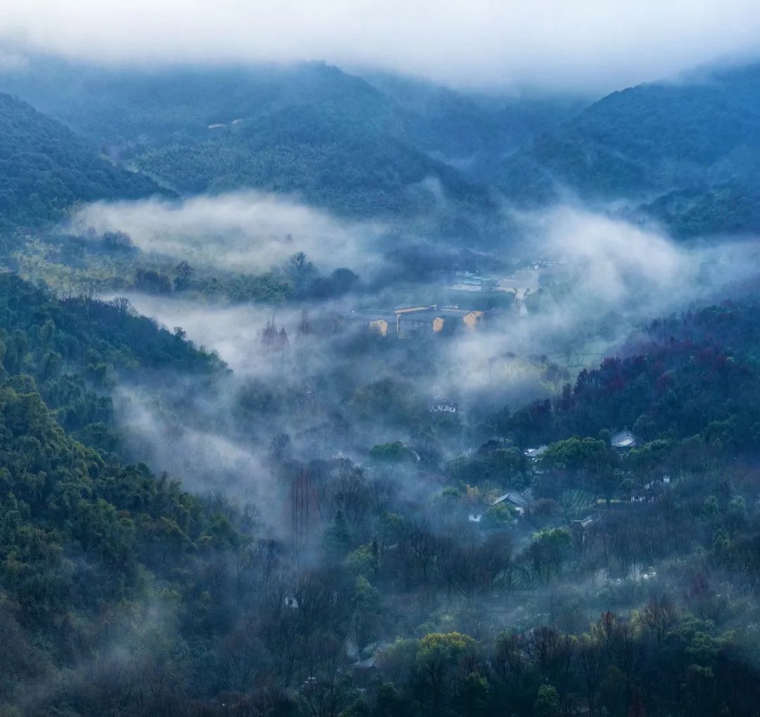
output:
{"label": "whole dark wooded lower valley and slopes below the fog, full width", "polygon": [[[276,436],[244,505],[128,465],[113,415],[119,385],[210,400],[216,357],[121,300],[0,279],[9,715],[753,714],[755,299],[657,320],[454,459],[431,436],[472,429],[425,411],[359,462]],[[293,410],[287,383],[243,388],[236,430]],[[415,410],[394,379],[363,393],[368,426]],[[641,444],[610,449],[624,425]],[[522,514],[488,507],[525,488]]]}

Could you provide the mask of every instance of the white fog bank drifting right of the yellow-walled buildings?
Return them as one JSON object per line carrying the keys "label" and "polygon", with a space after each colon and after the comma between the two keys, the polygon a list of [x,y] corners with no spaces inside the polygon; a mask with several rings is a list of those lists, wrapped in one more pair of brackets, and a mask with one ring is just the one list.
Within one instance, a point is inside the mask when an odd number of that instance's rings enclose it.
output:
{"label": "white fog bank drifting right of the yellow-walled buildings", "polygon": [[562,262],[553,278],[543,277],[558,286],[545,291],[540,312],[451,342],[449,375],[466,374],[478,401],[496,397],[498,405],[508,396],[521,405],[532,398],[526,389],[538,384],[528,355],[545,354],[560,365],[582,357],[593,366],[655,317],[724,300],[757,274],[757,239],[678,244],[653,227],[572,206],[522,220],[534,236],[534,255]]}

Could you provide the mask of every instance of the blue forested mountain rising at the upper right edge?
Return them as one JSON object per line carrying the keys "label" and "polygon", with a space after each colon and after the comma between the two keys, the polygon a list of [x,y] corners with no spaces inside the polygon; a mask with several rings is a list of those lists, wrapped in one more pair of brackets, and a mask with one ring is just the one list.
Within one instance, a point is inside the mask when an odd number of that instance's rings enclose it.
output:
{"label": "blue forested mountain rising at the upper right edge", "polygon": [[499,183],[521,205],[641,203],[679,236],[758,230],[758,94],[760,65],[615,92],[509,157]]}

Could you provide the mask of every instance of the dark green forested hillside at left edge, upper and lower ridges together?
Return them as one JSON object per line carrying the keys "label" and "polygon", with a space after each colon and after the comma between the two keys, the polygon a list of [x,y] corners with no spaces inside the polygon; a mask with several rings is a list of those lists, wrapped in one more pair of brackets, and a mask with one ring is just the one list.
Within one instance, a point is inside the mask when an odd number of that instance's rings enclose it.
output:
{"label": "dark green forested hillside at left edge, upper and lower ridges together", "polygon": [[195,617],[180,617],[180,596],[249,550],[250,521],[122,464],[109,389],[117,376],[197,377],[220,363],[124,303],[58,299],[8,274],[0,315],[0,713],[102,713],[105,681],[130,674],[119,701],[147,697],[156,714],[166,694],[149,697],[146,681],[173,681],[158,643],[176,639],[176,619],[207,619],[200,593]]}

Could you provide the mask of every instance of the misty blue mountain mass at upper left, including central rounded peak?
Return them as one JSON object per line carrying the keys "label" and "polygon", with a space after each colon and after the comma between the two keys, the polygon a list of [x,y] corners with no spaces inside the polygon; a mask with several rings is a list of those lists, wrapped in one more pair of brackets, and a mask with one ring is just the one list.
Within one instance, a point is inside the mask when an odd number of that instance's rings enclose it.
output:
{"label": "misty blue mountain mass at upper left, including central rounded peak", "polygon": [[109,72],[43,62],[0,87],[179,192],[293,192],[361,216],[435,211],[442,197],[454,211],[492,210],[485,189],[415,144],[394,100],[321,63]]}

